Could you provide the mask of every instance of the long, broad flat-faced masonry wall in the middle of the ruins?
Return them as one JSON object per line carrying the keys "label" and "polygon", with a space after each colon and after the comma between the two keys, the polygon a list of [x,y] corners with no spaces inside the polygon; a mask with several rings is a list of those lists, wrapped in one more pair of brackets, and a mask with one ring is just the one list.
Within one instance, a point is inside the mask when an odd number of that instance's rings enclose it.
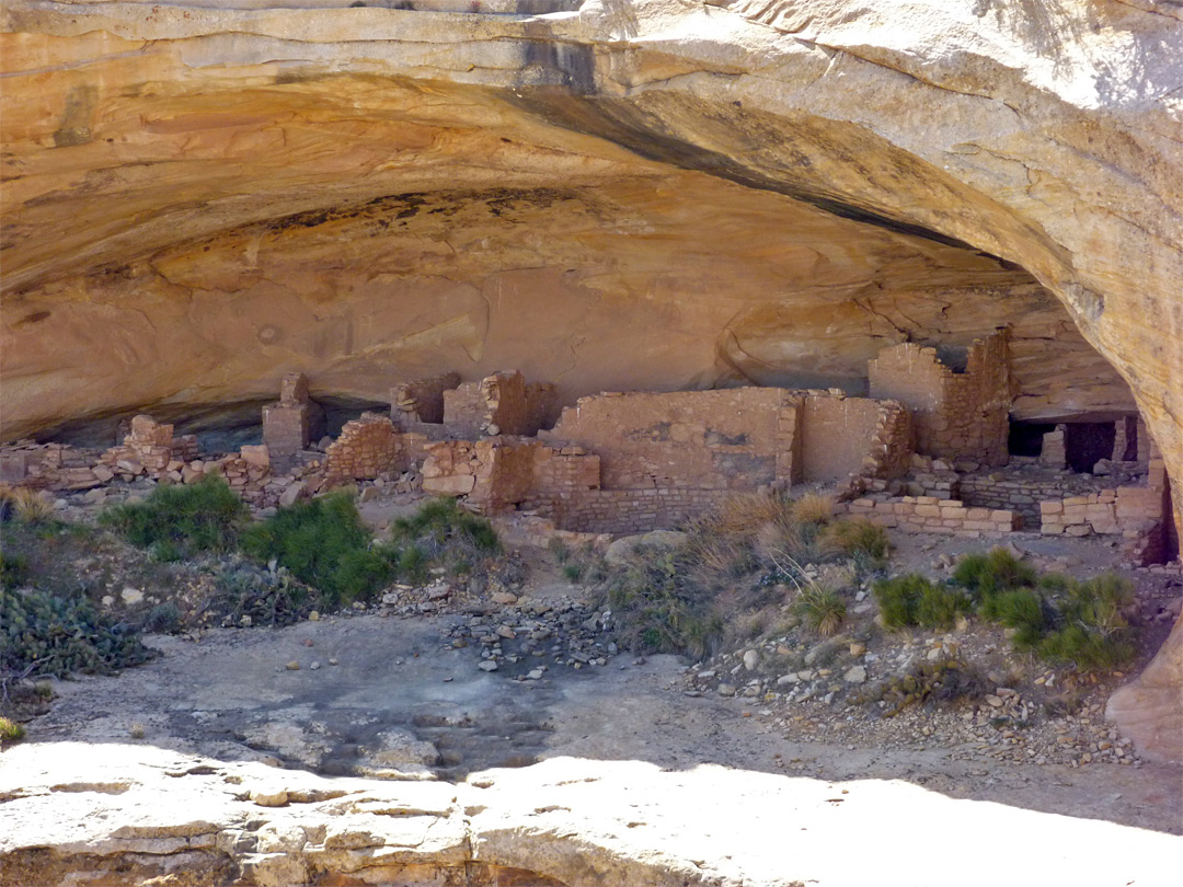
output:
{"label": "long, broad flat-faced masonry wall in the middle of the ruins", "polygon": [[781,388],[602,394],[538,436],[596,453],[606,490],[754,490],[793,477],[800,402]]}

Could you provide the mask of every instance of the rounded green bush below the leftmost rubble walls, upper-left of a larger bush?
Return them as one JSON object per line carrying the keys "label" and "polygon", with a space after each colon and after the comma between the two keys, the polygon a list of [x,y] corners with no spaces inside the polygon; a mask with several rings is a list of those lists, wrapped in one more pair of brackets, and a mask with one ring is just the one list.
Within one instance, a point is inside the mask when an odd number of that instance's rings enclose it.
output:
{"label": "rounded green bush below the leftmost rubble walls, upper-left of a larger bush", "polygon": [[160,559],[234,548],[247,510],[220,478],[186,486],[157,486],[143,501],[114,505],[99,523]]}

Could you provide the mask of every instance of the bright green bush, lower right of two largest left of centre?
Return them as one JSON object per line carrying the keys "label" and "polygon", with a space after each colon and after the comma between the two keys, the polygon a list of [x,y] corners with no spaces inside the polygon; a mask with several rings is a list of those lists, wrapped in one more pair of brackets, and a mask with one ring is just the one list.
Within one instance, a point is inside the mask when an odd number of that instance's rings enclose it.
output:
{"label": "bright green bush, lower right of two largest left of centre", "polygon": [[274,558],[319,590],[327,607],[366,600],[394,575],[393,553],[369,548],[369,531],[344,493],[280,509],[243,531],[241,543],[251,557]]}

